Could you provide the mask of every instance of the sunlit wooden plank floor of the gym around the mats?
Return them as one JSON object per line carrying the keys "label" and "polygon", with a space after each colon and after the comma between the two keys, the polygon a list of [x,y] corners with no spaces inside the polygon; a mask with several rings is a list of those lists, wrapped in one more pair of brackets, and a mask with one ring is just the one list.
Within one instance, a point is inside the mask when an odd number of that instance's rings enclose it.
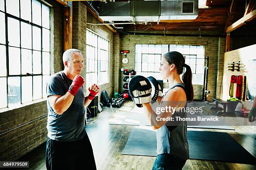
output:
{"label": "sunlit wooden plank floor of the gym around the mats", "polygon": [[[125,107],[134,107],[126,102]],[[92,143],[98,170],[151,170],[156,157],[122,155],[131,125],[109,125],[113,114],[122,112],[118,108],[107,107],[94,121],[87,122],[87,133]],[[236,130],[193,129],[200,131],[226,132],[249,153],[256,157],[256,126],[233,126]],[[248,138],[252,136],[252,138]],[[29,170],[45,170],[45,143],[20,160],[30,161]],[[256,170],[255,165],[225,163],[209,160],[187,160],[183,170]]]}

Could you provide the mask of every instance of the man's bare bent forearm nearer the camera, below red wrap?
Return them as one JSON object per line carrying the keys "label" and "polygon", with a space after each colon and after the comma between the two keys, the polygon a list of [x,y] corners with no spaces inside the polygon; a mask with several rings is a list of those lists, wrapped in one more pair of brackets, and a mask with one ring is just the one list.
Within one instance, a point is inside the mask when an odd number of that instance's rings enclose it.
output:
{"label": "man's bare bent forearm nearer the camera, below red wrap", "polygon": [[74,96],[70,92],[67,92],[65,95],[57,98],[54,105],[54,110],[56,113],[61,115],[63,112],[65,112],[71,105],[73,99]]}

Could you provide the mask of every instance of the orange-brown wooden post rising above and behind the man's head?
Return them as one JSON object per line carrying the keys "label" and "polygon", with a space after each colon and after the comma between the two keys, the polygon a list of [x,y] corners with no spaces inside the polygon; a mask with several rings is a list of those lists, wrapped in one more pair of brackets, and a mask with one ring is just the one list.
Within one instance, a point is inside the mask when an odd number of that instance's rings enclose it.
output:
{"label": "orange-brown wooden post rising above and behind the man's head", "polygon": [[72,48],[72,2],[64,7],[64,51]]}

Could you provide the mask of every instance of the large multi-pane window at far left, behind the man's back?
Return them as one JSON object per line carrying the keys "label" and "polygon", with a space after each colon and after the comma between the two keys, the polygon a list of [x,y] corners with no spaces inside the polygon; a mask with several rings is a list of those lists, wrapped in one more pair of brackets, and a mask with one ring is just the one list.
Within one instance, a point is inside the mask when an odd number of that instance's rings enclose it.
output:
{"label": "large multi-pane window at far left, behind the man's back", "polygon": [[46,97],[50,9],[37,0],[0,0],[0,108]]}

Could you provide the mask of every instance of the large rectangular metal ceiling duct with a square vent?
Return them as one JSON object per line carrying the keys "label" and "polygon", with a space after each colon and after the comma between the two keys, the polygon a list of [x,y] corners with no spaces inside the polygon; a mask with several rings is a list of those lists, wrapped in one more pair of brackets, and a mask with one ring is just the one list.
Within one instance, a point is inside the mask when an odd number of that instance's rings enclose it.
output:
{"label": "large rectangular metal ceiling duct with a square vent", "polygon": [[159,20],[195,20],[198,0],[131,0],[101,2],[100,18],[105,21],[157,22]]}

